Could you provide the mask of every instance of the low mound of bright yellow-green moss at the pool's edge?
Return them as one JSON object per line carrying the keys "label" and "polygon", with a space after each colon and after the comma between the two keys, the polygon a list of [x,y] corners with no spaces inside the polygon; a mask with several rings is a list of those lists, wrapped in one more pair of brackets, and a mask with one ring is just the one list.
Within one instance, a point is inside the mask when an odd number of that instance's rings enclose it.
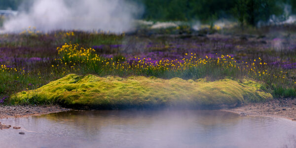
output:
{"label": "low mound of bright yellow-green moss at the pool's edge", "polygon": [[16,103],[54,103],[79,109],[236,106],[272,99],[254,81],[98,77],[69,74],[36,90],[17,93]]}

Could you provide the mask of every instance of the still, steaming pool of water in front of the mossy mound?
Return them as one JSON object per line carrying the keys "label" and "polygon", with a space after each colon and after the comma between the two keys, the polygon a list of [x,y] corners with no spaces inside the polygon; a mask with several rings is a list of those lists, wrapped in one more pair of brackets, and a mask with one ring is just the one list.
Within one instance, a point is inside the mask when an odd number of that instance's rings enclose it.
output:
{"label": "still, steaming pool of water in front of the mossy mound", "polygon": [[296,122],[223,111],[69,111],[0,122],[22,127],[0,131],[3,148],[296,146]]}

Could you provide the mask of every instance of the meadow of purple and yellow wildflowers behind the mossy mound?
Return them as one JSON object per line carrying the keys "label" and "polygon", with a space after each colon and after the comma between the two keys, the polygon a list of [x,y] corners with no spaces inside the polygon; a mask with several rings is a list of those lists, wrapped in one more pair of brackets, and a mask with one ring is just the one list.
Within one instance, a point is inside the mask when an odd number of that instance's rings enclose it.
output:
{"label": "meadow of purple and yellow wildflowers behind the mossy mound", "polygon": [[[0,102],[67,74],[254,80],[274,98],[296,96],[296,36],[281,27],[180,28],[132,34],[28,29],[0,35]],[[291,32],[292,30],[292,32]],[[176,34],[180,32],[180,34]],[[182,33],[181,33],[182,32]],[[165,34],[164,34],[165,33]],[[169,34],[168,34],[169,33]],[[30,102],[28,99],[26,104]]]}

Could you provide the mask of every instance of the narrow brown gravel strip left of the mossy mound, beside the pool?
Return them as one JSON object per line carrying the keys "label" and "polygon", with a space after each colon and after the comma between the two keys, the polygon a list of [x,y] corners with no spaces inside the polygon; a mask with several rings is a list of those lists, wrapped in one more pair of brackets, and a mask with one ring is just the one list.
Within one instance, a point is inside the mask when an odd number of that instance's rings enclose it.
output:
{"label": "narrow brown gravel strip left of the mossy mound, beside the pool", "polygon": [[70,111],[70,109],[59,106],[0,106],[0,118],[24,117],[61,111]]}

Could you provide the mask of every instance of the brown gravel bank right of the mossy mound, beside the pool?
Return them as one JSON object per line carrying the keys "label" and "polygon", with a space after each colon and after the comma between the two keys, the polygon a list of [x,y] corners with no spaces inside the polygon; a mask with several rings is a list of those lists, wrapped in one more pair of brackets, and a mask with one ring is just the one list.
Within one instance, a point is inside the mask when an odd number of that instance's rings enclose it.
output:
{"label": "brown gravel bank right of the mossy mound, beside the pool", "polygon": [[296,121],[296,98],[274,99],[264,103],[251,103],[233,109],[224,109],[244,115],[288,118]]}

